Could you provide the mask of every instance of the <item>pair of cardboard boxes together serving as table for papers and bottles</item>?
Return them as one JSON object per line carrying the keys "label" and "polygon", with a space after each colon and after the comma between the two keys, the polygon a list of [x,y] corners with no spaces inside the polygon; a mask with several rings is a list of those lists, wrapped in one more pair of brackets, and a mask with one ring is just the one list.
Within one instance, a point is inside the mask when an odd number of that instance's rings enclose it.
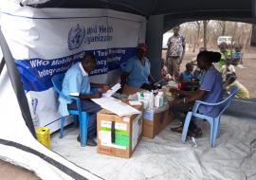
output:
{"label": "pair of cardboard boxes together serving as table for papers and bottles", "polygon": [[[142,89],[125,86],[123,94],[136,94]],[[128,102],[127,102],[128,103]],[[97,114],[98,153],[129,158],[142,138],[154,138],[172,121],[168,103],[154,110],[143,110],[138,115],[119,117],[102,109]]]}

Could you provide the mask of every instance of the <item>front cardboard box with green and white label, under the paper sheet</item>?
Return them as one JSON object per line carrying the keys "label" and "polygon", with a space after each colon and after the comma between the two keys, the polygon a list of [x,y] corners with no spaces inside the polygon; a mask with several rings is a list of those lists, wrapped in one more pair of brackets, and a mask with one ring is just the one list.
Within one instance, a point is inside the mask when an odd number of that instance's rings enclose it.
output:
{"label": "front cardboard box with green and white label, under the paper sheet", "polygon": [[141,137],[142,114],[119,117],[105,109],[97,114],[98,153],[129,158]]}

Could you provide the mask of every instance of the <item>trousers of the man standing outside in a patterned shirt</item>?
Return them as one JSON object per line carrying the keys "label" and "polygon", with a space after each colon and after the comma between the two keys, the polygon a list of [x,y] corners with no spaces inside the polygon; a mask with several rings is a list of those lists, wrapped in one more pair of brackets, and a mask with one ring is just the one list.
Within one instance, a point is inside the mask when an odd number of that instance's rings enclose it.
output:
{"label": "trousers of the man standing outside in a patterned shirt", "polygon": [[181,57],[180,56],[169,56],[167,57],[166,66],[168,73],[170,73],[172,76],[174,76],[175,80],[178,80],[179,77],[179,66],[181,63]]}

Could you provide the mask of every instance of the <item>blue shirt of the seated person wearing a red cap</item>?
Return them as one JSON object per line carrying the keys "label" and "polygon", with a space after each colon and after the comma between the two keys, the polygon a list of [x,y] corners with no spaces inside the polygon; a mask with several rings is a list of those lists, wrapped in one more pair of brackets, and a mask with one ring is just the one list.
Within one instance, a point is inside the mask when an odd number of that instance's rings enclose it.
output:
{"label": "blue shirt of the seated person wearing a red cap", "polygon": [[129,74],[127,84],[134,87],[140,87],[143,83],[149,83],[150,62],[144,57],[145,64],[143,65],[137,59],[137,56],[130,58],[125,66],[125,72]]}

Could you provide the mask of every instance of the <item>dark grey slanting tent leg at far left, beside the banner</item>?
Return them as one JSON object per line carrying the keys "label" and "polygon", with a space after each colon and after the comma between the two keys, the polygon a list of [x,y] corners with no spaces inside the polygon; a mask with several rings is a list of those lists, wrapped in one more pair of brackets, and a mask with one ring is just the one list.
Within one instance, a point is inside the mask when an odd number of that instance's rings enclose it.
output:
{"label": "dark grey slanting tent leg at far left, beside the banner", "polygon": [[9,46],[7,45],[5,37],[2,33],[1,27],[0,27],[0,45],[1,45],[3,55],[5,57],[5,62],[7,64],[9,78],[10,78],[12,87],[14,89],[14,92],[16,94],[22,115],[27,124],[27,128],[29,129],[31,134],[35,137],[36,136],[35,129],[34,129],[31,115],[30,115],[27,98],[26,98],[26,95],[25,95],[25,92],[23,89],[22,81],[21,81],[20,75],[18,73],[18,70],[16,69],[14,60],[11,56],[11,53],[9,51]]}

